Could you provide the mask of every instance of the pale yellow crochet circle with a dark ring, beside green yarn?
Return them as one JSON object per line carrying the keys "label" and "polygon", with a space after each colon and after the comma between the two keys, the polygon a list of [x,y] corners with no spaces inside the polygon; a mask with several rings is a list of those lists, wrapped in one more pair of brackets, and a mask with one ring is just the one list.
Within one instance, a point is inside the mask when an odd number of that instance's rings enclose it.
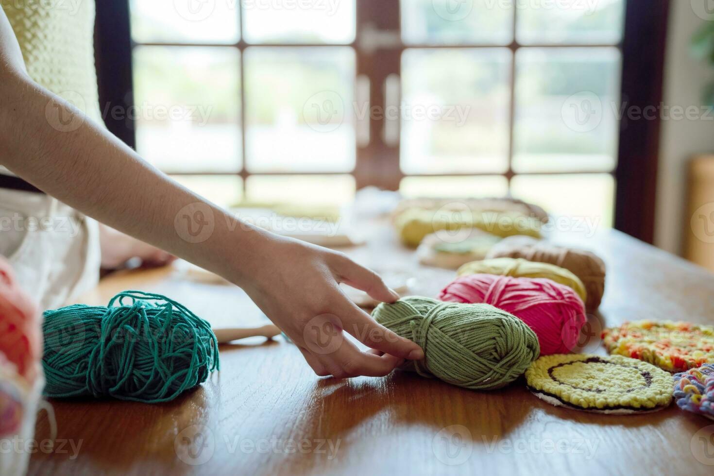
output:
{"label": "pale yellow crochet circle with a dark ring, beside green yarn", "polygon": [[672,375],[621,355],[545,355],[526,370],[528,388],[551,405],[590,412],[653,412],[672,401]]}

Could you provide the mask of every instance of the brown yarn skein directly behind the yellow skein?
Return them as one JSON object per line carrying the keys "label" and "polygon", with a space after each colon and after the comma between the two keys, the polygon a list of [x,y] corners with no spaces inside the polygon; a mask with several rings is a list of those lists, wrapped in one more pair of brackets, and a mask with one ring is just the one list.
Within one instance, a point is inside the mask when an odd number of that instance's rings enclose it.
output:
{"label": "brown yarn skein directly behind the yellow skein", "polygon": [[504,238],[488,252],[486,258],[525,258],[529,261],[550,263],[570,270],[578,276],[588,292],[585,310],[598,309],[605,293],[605,263],[594,253],[576,248],[556,246],[529,236]]}

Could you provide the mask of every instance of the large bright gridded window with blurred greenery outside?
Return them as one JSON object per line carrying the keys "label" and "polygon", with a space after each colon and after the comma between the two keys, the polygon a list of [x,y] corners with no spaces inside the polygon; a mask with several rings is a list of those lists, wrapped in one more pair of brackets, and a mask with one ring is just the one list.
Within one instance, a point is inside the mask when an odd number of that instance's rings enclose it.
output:
{"label": "large bright gridded window with blurred greenery outside", "polygon": [[131,0],[136,148],[223,205],[503,195],[613,223],[625,0]]}

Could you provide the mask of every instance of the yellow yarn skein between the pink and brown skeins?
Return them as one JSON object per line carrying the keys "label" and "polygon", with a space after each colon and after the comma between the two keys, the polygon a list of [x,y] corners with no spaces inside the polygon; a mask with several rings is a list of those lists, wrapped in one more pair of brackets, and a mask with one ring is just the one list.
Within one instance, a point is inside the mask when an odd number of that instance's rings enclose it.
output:
{"label": "yellow yarn skein between the pink and brown skeins", "polygon": [[538,263],[523,258],[491,258],[489,260],[471,261],[458,268],[459,276],[469,274],[495,274],[513,276],[515,278],[545,278],[555,283],[564,284],[580,296],[583,303],[588,298],[583,281],[571,271],[550,263]]}

